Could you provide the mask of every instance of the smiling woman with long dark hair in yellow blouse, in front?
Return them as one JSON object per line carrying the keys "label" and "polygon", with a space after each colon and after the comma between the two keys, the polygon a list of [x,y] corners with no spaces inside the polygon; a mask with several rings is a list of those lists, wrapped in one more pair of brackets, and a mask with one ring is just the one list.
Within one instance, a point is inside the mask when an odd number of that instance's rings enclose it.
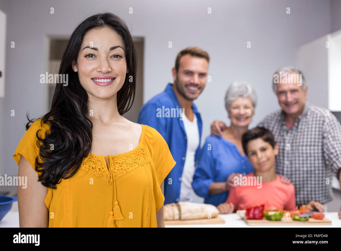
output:
{"label": "smiling woman with long dark hair in yellow blouse, in front", "polygon": [[136,86],[127,25],[112,13],[85,19],[59,74],[69,84],[57,83],[47,114],[27,116],[13,155],[29,176],[18,189],[20,227],[163,226],[163,180],[175,161],[157,130],[122,116]]}

